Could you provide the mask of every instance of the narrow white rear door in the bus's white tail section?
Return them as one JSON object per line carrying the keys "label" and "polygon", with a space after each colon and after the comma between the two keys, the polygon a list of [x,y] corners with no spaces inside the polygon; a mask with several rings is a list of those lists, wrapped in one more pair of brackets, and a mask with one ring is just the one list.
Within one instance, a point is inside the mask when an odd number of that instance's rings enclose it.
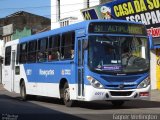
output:
{"label": "narrow white rear door in the bus's white tail section", "polygon": [[15,77],[15,50],[11,53],[11,91],[14,91],[14,77]]}

